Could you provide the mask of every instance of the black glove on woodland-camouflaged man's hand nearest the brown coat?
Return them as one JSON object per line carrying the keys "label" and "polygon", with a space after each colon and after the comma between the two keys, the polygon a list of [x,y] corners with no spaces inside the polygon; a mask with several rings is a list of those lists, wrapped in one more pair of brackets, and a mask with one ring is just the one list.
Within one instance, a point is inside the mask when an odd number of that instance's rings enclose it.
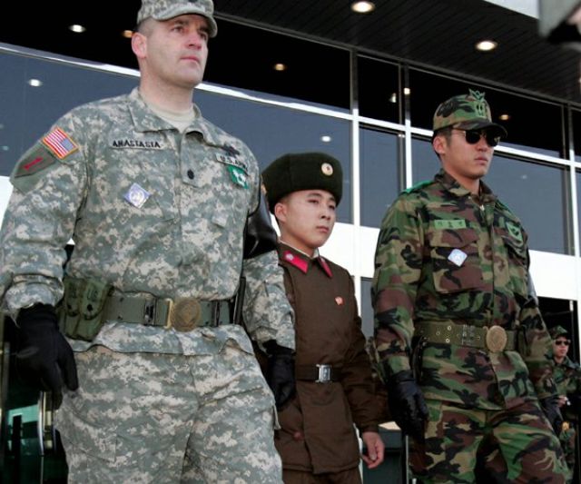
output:
{"label": "black glove on woodland-camouflaged man's hand nearest the brown coat", "polygon": [[399,428],[416,440],[424,439],[428,407],[411,370],[399,371],[388,379],[389,411]]}

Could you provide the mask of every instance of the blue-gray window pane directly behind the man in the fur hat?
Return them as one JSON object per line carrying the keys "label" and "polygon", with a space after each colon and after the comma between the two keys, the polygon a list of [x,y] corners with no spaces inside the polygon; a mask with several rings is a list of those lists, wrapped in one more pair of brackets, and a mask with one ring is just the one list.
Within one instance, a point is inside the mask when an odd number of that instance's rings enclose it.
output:
{"label": "blue-gray window pane directly behind the man in the fur hat", "polygon": [[324,152],[340,160],[343,198],[337,220],[352,221],[349,122],[207,91],[194,97],[204,117],[249,145],[261,168],[284,153]]}

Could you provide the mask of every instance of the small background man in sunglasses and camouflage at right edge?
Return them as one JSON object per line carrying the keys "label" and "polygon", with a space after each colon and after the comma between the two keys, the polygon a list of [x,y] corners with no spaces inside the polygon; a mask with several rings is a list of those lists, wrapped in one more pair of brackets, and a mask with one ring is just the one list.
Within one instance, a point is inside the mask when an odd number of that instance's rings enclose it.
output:
{"label": "small background man in sunglasses and camouflage at right edge", "polygon": [[559,440],[571,471],[571,479],[573,479],[576,460],[576,427],[581,410],[581,368],[567,356],[571,340],[568,339],[566,329],[563,326],[556,326],[549,332],[553,338],[553,360],[555,361],[553,378],[559,395],[559,408],[564,419]]}

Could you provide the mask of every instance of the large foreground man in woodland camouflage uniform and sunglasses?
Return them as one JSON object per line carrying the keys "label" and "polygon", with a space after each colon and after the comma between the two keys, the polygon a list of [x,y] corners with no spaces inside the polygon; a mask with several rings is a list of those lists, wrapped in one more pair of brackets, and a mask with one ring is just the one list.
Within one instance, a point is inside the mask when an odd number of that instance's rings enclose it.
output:
{"label": "large foreground man in woodland camouflage uniform and sunglasses", "polygon": [[401,193],[379,232],[372,300],[389,410],[422,482],[565,482],[550,337],[527,233],[490,191],[505,129],[483,93],[440,104],[441,170]]}

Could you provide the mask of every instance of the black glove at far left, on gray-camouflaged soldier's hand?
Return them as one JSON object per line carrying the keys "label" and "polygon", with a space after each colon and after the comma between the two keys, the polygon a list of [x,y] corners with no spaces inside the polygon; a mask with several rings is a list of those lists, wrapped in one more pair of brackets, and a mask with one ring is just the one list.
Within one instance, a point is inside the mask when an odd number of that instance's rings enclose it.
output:
{"label": "black glove at far left, on gray-camouflaged soldier's hand", "polygon": [[35,304],[20,310],[20,349],[16,365],[22,376],[38,390],[60,393],[79,388],[73,350],[58,329],[54,307]]}

